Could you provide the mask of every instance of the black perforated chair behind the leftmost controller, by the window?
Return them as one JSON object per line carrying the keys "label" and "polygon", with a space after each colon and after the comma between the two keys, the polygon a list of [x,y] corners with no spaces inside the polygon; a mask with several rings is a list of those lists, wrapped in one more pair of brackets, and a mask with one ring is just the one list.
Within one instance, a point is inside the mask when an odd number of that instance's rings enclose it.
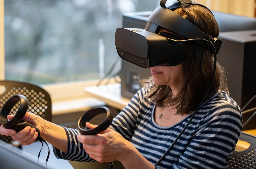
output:
{"label": "black perforated chair behind the leftmost controller, by the window", "polygon": [[[42,118],[51,121],[51,97],[47,91],[39,86],[16,81],[0,81],[0,86],[5,86],[5,91],[0,95],[0,109],[13,95],[24,95],[29,101],[28,112],[32,112]],[[19,102],[11,110],[10,114],[18,111]],[[1,124],[0,124],[1,125]],[[0,139],[12,143],[11,136],[0,135]]]}

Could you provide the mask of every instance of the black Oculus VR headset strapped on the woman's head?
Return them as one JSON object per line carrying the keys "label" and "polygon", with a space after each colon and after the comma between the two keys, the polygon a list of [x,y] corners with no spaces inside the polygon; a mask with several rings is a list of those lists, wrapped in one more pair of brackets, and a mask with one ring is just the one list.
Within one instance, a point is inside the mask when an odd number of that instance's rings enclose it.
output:
{"label": "black Oculus VR headset strapped on the woman's head", "polygon": [[[187,46],[184,42],[188,40],[182,40],[179,36],[193,40],[217,55],[222,40],[208,36],[174,12],[175,9],[188,5],[205,6],[191,0],[178,0],[174,5],[166,7],[166,1],[161,0],[160,7],[157,7],[148,18],[145,29],[117,28],[115,46],[119,57],[142,68],[158,65],[176,66],[183,62],[187,55]],[[158,34],[157,31],[161,27],[179,36],[166,32]],[[212,48],[215,48],[216,53]]]}

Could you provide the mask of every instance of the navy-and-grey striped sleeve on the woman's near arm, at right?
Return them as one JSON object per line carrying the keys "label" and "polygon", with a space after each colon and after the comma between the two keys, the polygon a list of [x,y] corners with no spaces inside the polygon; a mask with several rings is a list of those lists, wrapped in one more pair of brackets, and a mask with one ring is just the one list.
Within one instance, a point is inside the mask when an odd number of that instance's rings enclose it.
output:
{"label": "navy-and-grey striped sleeve on the woman's near arm, at right", "polygon": [[173,169],[227,167],[242,128],[240,108],[222,103],[211,110],[201,126]]}

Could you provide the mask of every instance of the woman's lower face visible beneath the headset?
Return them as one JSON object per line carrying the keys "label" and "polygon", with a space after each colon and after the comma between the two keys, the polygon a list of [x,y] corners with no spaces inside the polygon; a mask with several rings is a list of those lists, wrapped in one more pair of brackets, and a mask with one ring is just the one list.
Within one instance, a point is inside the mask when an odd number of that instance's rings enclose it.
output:
{"label": "woman's lower face visible beneath the headset", "polygon": [[150,70],[156,85],[170,85],[178,88],[182,84],[182,63],[177,66],[155,66]]}

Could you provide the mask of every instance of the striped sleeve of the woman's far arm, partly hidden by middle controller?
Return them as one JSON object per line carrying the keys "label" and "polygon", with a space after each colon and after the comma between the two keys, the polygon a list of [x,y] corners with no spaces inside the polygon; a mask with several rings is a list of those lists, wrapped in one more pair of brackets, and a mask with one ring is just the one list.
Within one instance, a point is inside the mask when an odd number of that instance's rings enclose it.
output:
{"label": "striped sleeve of the woman's far arm, partly hidden by middle controller", "polygon": [[[113,118],[110,128],[120,133],[125,139],[131,140],[135,130],[135,124],[143,100],[144,88],[140,89],[131,99],[129,104],[115,117]],[[85,153],[82,143],[77,140],[79,130],[63,127],[66,131],[68,138],[68,149],[64,153],[53,146],[53,153],[58,159],[81,161],[81,162],[94,162],[95,160],[90,158]]]}

